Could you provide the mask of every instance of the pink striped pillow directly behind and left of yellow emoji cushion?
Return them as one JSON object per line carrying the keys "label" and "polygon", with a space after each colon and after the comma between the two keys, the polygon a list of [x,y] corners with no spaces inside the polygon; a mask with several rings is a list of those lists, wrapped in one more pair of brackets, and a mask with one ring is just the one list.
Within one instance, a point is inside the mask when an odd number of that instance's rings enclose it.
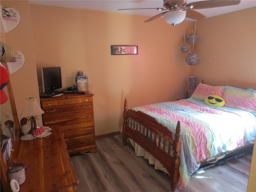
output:
{"label": "pink striped pillow directly behind and left of yellow emoji cushion", "polygon": [[224,86],[210,86],[200,83],[190,98],[204,102],[209,95],[218,95],[222,97],[224,88]]}

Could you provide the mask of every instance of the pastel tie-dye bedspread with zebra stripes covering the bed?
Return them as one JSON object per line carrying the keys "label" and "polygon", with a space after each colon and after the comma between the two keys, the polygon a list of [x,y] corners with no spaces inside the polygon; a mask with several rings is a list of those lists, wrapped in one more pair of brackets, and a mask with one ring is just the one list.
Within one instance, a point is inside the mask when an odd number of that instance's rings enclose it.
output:
{"label": "pastel tie-dye bedspread with zebra stripes covering the bed", "polygon": [[201,161],[254,141],[256,114],[228,107],[210,107],[191,98],[132,108],[140,110],[175,132],[181,125],[180,190],[188,184]]}

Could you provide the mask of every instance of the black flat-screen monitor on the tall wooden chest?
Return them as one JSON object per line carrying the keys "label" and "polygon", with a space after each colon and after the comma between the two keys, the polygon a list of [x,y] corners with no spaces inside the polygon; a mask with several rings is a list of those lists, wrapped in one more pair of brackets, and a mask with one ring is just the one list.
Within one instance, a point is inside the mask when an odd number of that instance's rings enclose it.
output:
{"label": "black flat-screen monitor on the tall wooden chest", "polygon": [[56,90],[62,88],[60,67],[42,68],[42,85],[45,94],[59,93]]}

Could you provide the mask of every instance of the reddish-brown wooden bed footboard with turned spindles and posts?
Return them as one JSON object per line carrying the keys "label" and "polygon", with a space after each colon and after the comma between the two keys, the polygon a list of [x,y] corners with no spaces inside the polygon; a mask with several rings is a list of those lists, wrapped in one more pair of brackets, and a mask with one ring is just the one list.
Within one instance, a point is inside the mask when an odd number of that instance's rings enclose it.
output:
{"label": "reddish-brown wooden bed footboard with turned spindles and posts", "polygon": [[180,121],[173,136],[174,133],[155,118],[141,111],[128,110],[127,99],[124,102],[123,118],[123,144],[126,145],[127,138],[131,138],[158,159],[170,174],[172,191],[175,191],[180,164]]}

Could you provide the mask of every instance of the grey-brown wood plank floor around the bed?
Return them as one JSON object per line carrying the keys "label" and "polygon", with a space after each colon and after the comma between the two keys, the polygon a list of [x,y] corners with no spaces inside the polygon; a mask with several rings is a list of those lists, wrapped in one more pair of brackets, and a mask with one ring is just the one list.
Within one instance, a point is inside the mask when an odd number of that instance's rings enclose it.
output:
{"label": "grey-brown wood plank floor around the bed", "polygon": [[[170,176],[137,157],[128,140],[123,146],[121,135],[98,139],[96,145],[94,154],[70,156],[78,192],[171,192]],[[248,153],[194,174],[182,192],[246,192],[251,159]]]}

